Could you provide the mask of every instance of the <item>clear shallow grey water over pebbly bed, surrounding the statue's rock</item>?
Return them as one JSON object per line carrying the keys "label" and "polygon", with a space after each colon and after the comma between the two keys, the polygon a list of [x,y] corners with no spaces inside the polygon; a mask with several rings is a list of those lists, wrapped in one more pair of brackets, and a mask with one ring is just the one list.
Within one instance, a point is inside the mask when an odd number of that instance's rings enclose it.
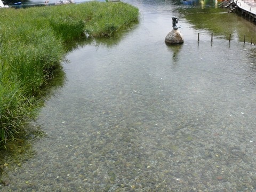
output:
{"label": "clear shallow grey water over pebbly bed, surrounding the statue's rock", "polygon": [[[131,3],[138,26],[67,55],[34,123],[48,137],[2,191],[255,191],[255,46]],[[166,46],[173,15],[185,43]]]}

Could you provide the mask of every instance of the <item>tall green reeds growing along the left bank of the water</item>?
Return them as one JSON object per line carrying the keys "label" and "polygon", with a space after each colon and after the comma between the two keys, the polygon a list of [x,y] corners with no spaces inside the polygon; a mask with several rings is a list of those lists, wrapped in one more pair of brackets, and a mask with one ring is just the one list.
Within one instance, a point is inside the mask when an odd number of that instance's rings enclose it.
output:
{"label": "tall green reeds growing along the left bank of the water", "polygon": [[0,147],[36,117],[41,89],[60,67],[64,43],[109,37],[138,21],[125,3],[88,2],[0,10]]}

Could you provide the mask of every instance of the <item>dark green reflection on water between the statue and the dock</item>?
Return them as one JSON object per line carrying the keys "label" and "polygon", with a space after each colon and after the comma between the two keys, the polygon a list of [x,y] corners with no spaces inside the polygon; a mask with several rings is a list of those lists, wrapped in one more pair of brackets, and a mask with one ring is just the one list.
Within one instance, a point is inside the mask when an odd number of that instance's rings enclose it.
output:
{"label": "dark green reflection on water between the statue and the dock", "polygon": [[255,33],[253,22],[239,17],[237,14],[229,14],[225,9],[216,9],[216,1],[201,1],[204,9],[197,7],[180,8],[181,17],[185,17],[197,30],[206,29],[214,36],[225,36],[229,39],[229,33],[236,41],[243,41],[246,35],[246,42],[251,41],[251,34]]}

